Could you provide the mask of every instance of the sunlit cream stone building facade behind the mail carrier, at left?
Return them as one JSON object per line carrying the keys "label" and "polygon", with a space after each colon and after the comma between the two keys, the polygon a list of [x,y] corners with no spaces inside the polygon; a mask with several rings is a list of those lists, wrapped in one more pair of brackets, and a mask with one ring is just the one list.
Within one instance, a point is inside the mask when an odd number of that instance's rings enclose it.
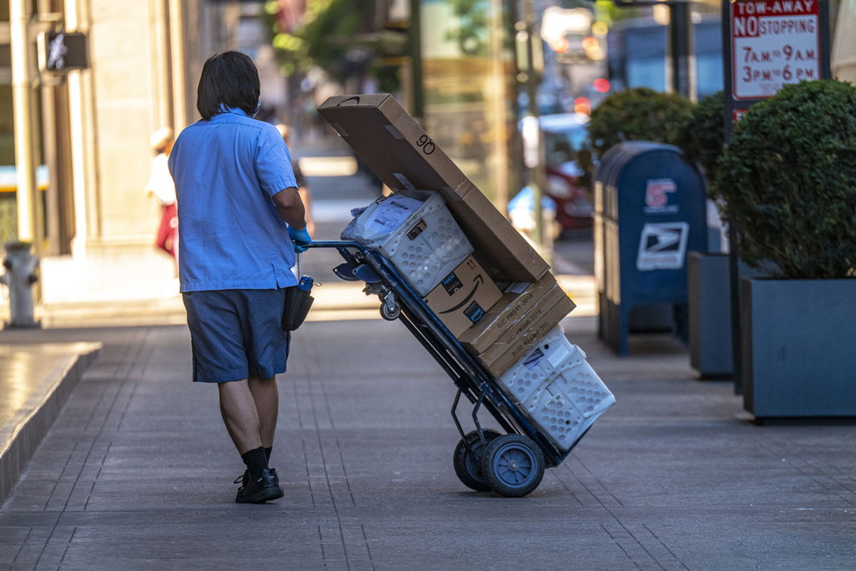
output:
{"label": "sunlit cream stone building facade behind the mail carrier, at left", "polygon": [[[157,200],[146,196],[158,128],[178,133],[198,118],[195,89],[205,57],[235,45],[238,2],[214,0],[12,0],[31,15],[33,139],[39,176],[35,249],[45,304],[150,299],[175,265],[154,247]],[[9,3],[5,3],[9,5]],[[0,217],[16,237],[9,9],[0,9]],[[13,22],[14,25],[14,22]],[[83,33],[88,67],[45,68],[42,33]],[[5,45],[4,45],[5,44]],[[9,65],[9,64],[7,64]],[[20,149],[19,149],[20,152]],[[11,172],[3,183],[3,169]],[[17,179],[16,179],[17,177]],[[7,175],[7,178],[9,176]]]}

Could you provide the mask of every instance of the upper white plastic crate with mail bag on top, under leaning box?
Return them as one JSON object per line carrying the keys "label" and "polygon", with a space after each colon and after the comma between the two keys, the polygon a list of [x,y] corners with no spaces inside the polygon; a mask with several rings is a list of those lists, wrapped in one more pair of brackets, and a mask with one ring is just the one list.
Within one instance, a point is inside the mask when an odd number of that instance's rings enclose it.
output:
{"label": "upper white plastic crate with mail bag on top, under leaning box", "polygon": [[423,297],[473,253],[443,197],[433,191],[404,191],[369,205],[342,239],[380,250]]}

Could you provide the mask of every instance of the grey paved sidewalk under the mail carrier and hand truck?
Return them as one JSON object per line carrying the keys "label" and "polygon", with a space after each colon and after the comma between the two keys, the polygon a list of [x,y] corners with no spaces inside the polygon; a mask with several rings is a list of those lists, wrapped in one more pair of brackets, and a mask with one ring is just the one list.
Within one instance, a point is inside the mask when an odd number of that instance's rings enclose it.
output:
{"label": "grey paved sidewalk under the mail carrier and hand truck", "polygon": [[401,324],[305,324],[279,382],[286,493],[262,506],[234,503],[186,327],[15,333],[104,348],[0,508],[0,569],[856,566],[856,427],[753,425],[673,340],[618,359],[594,318],[565,325],[618,404],[507,499],[455,478],[454,385]]}

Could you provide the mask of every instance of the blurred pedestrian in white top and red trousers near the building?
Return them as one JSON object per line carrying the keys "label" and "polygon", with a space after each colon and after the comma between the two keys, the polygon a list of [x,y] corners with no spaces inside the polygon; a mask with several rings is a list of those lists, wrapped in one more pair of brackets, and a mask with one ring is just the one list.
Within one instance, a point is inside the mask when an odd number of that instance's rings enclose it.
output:
{"label": "blurred pedestrian in white top and red trousers near the building", "polygon": [[155,158],[152,159],[152,172],[146,182],[146,193],[154,194],[160,203],[160,222],[155,244],[172,257],[177,275],[178,214],[175,208],[175,184],[167,164],[175,142],[172,129],[159,128],[152,133],[149,142]]}

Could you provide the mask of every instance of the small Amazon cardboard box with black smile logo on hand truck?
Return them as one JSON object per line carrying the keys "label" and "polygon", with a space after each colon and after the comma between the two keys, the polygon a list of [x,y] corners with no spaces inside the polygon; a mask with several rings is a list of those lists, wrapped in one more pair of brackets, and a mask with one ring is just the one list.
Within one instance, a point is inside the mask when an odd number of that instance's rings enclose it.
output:
{"label": "small Amazon cardboard box with black smile logo on hand truck", "polygon": [[501,297],[496,283],[479,262],[469,256],[431,289],[425,296],[425,303],[457,337],[484,318]]}

